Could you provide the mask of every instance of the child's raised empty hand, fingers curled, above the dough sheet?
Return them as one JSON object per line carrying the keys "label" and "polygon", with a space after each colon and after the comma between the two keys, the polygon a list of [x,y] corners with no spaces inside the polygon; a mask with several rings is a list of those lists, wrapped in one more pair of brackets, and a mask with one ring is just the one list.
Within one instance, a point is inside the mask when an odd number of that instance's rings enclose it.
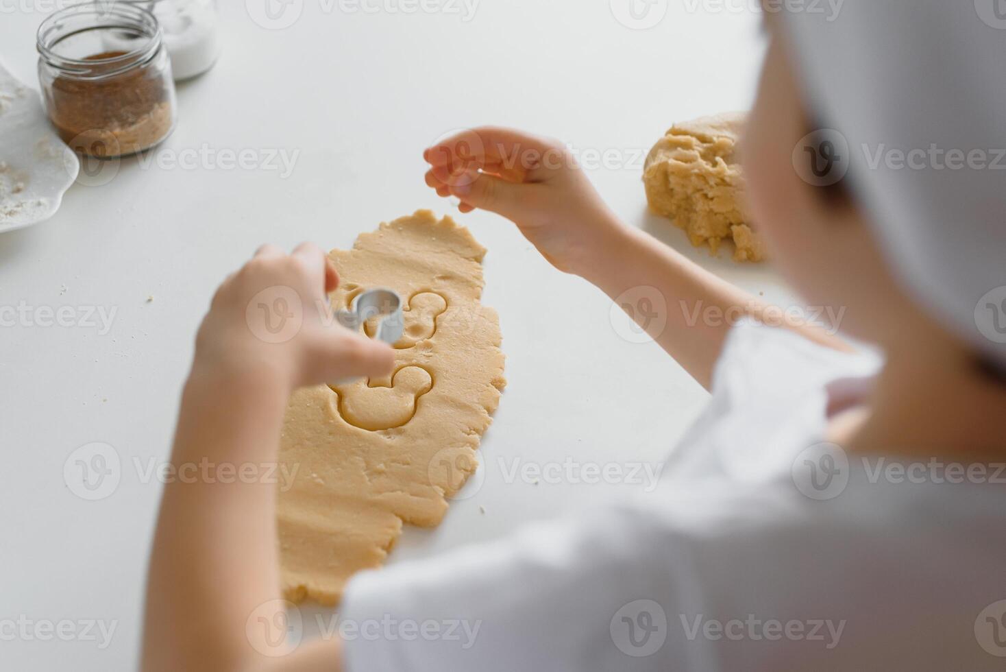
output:
{"label": "child's raised empty hand, fingers curled, above the dough sheet", "polygon": [[479,128],[426,150],[427,184],[456,196],[461,211],[512,220],[560,271],[581,273],[621,224],[559,142]]}

